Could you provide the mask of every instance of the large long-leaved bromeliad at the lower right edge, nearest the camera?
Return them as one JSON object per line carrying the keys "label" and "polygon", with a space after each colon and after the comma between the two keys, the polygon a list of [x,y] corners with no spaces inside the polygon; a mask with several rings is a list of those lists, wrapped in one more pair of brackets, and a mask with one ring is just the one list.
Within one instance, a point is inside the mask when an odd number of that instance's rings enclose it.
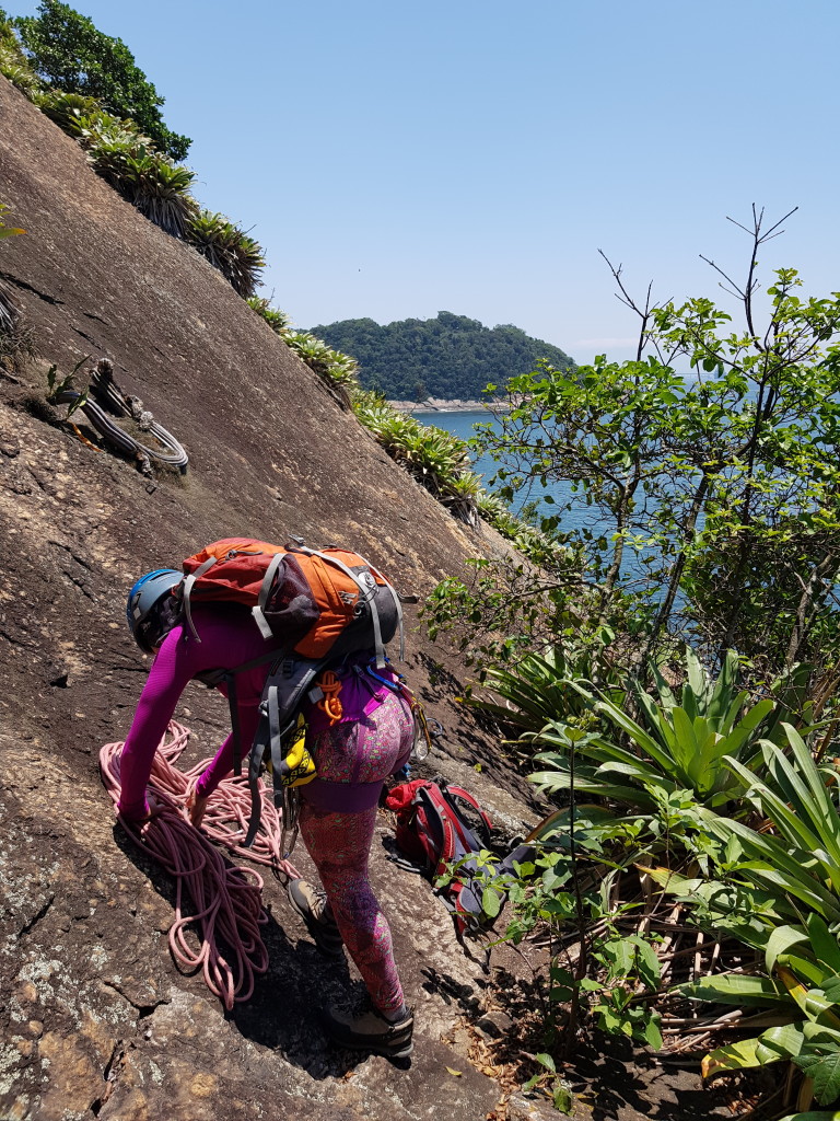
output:
{"label": "large long-leaved bromeliad at the lower right edge, nearest the camera", "polygon": [[[821,767],[803,738],[783,725],[786,750],[760,744],[759,773],[726,766],[765,818],[760,828],[706,813],[719,842],[719,879],[652,874],[702,925],[726,928],[762,952],[764,975],[722,975],[682,986],[691,1000],[763,1010],[741,1027],[766,1030],[720,1047],[703,1062],[707,1077],[790,1060],[804,1076],[797,1108],[840,1099],[840,812],[837,771]],[[769,830],[774,832],[769,832]],[[828,1121],[837,1114],[801,1114]]]}

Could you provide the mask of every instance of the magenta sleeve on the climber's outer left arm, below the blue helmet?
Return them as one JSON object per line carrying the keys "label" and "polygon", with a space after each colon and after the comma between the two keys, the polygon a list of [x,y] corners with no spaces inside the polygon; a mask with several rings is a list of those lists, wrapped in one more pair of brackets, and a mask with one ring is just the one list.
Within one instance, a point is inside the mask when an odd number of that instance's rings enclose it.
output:
{"label": "magenta sleeve on the climber's outer left arm, below the blue helmet", "polygon": [[172,719],[194,666],[189,646],[179,641],[178,627],[164,639],[140,694],[131,729],[125,736],[120,760],[120,802],[118,810],[129,821],[141,821],[149,813],[146,784],[155,752]]}

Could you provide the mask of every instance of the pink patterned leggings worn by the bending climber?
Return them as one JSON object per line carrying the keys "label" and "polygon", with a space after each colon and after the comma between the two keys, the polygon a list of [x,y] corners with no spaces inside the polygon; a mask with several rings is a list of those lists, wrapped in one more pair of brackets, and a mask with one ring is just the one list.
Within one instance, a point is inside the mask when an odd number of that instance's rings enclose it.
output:
{"label": "pink patterned leggings worn by the bending climber", "polygon": [[[329,781],[374,782],[393,772],[412,738],[407,705],[389,695],[360,723],[338,724],[315,741],[318,775]],[[354,773],[355,772],[355,773]],[[395,1012],[403,1003],[391,929],[373,893],[367,861],[376,806],[361,813],[323,813],[300,803],[300,834],[318,869],[349,955],[374,1007]]]}

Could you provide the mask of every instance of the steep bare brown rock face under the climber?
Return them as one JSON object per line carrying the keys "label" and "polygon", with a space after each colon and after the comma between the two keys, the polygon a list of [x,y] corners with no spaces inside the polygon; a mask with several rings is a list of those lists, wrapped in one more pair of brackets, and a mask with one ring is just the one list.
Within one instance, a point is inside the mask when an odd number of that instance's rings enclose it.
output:
{"label": "steep bare brown rock face under the climber", "polygon": [[[200,978],[180,975],[165,934],[171,883],[114,823],[96,763],[144,679],[123,614],[142,572],[217,537],[297,532],[352,544],[422,595],[503,545],[449,518],[220,274],[123,202],[3,78],[0,202],[27,230],[1,243],[0,278],[44,360],[0,378],[0,1117],[484,1118],[498,1086],[440,1039],[480,1015],[486,976],[429,886],[385,860],[384,817],[373,877],[418,1010],[408,1069],[325,1041],[318,1006],[360,982],[318,956],[271,880],[271,964],[253,999],[225,1015]],[[184,479],[143,476],[43,404],[47,365],[66,373],[87,355],[111,359],[186,446]],[[458,710],[457,665],[414,617],[408,627],[407,674],[447,730],[436,766],[522,815],[522,784]],[[196,758],[215,750],[218,696],[190,687],[178,715]]]}

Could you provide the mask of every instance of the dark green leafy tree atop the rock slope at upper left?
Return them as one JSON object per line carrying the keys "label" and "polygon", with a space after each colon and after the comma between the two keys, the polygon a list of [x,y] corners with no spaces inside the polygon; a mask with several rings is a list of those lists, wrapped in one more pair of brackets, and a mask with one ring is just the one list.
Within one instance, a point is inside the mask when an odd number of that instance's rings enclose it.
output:
{"label": "dark green leafy tree atop the rock slope at upper left", "polygon": [[110,112],[136,121],[171,159],[186,157],[192,141],[164,123],[164,98],[136,65],[122,39],[104,35],[86,16],[59,0],[41,0],[37,16],[19,17],[13,24],[34,70],[45,82],[67,93],[99,99]]}

